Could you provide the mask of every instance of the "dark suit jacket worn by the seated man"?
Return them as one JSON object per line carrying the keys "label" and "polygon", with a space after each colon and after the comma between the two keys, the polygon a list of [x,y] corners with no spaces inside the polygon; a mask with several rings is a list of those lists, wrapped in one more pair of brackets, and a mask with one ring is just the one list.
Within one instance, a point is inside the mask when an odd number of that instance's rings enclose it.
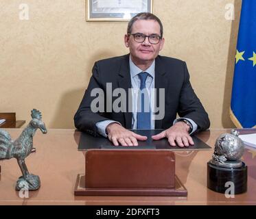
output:
{"label": "dark suit jacket worn by the seated man", "polygon": [[[116,120],[127,129],[132,128],[132,112],[128,112],[128,98],[126,112],[106,112],[106,95],[104,113],[91,111],[91,101],[95,99],[95,96],[91,96],[91,90],[101,88],[106,94],[106,83],[112,83],[113,90],[124,88],[128,94],[128,88],[131,88],[129,54],[95,62],[89,86],[74,117],[75,127],[80,131],[96,136],[95,124],[107,119]],[[194,120],[198,131],[209,128],[208,114],[191,87],[185,62],[161,55],[156,57],[154,86],[157,90],[165,88],[165,116],[163,120],[155,120],[155,129],[171,127],[177,113],[181,117]],[[115,99],[117,97],[113,97],[112,101]],[[156,103],[159,105],[159,98]]]}

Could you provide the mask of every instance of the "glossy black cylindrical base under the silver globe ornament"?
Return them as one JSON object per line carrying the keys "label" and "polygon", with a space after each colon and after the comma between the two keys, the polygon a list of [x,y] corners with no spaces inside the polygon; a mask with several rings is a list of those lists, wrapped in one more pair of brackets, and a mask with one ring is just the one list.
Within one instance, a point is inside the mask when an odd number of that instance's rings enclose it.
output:
{"label": "glossy black cylindrical base under the silver globe ornament", "polygon": [[[242,162],[240,168],[223,168],[207,163],[207,187],[215,192],[225,193],[234,183],[234,194],[247,191],[247,166]],[[226,186],[225,186],[226,185]]]}

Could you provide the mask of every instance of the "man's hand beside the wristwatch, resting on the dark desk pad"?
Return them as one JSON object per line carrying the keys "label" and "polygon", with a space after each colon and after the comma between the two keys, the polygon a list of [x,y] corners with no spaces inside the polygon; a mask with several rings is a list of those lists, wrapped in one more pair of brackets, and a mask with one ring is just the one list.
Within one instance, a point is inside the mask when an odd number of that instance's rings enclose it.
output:
{"label": "man's hand beside the wristwatch, resting on the dark desk pad", "polygon": [[159,140],[162,138],[168,138],[168,142],[171,146],[176,146],[175,141],[180,147],[189,146],[189,144],[194,145],[192,138],[189,136],[188,130],[189,126],[186,123],[178,122],[158,135],[152,136],[152,139]]}

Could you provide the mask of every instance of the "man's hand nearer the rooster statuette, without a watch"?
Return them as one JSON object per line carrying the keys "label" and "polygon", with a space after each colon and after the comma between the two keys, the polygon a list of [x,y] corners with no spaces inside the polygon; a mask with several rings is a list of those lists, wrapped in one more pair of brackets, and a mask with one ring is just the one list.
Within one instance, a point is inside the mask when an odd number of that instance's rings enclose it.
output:
{"label": "man's hand nearer the rooster statuette, without a watch", "polygon": [[115,146],[138,146],[137,140],[146,141],[146,136],[140,136],[137,133],[125,129],[117,123],[110,123],[106,127],[108,132],[108,139],[113,142]]}

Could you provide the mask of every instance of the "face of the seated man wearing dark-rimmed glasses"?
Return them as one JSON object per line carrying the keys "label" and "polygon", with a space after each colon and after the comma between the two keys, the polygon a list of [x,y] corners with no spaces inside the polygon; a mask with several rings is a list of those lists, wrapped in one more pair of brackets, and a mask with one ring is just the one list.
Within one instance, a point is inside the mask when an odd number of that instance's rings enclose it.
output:
{"label": "face of the seated man wearing dark-rimmed glasses", "polygon": [[[132,25],[132,34],[160,34],[160,25],[157,21],[154,20],[137,20]],[[124,38],[126,47],[130,49],[130,55],[132,62],[135,64],[143,64],[144,62],[153,61],[159,51],[163,48],[164,38],[162,38],[158,44],[151,44],[146,37],[144,42],[136,42],[132,35],[127,35]]]}

